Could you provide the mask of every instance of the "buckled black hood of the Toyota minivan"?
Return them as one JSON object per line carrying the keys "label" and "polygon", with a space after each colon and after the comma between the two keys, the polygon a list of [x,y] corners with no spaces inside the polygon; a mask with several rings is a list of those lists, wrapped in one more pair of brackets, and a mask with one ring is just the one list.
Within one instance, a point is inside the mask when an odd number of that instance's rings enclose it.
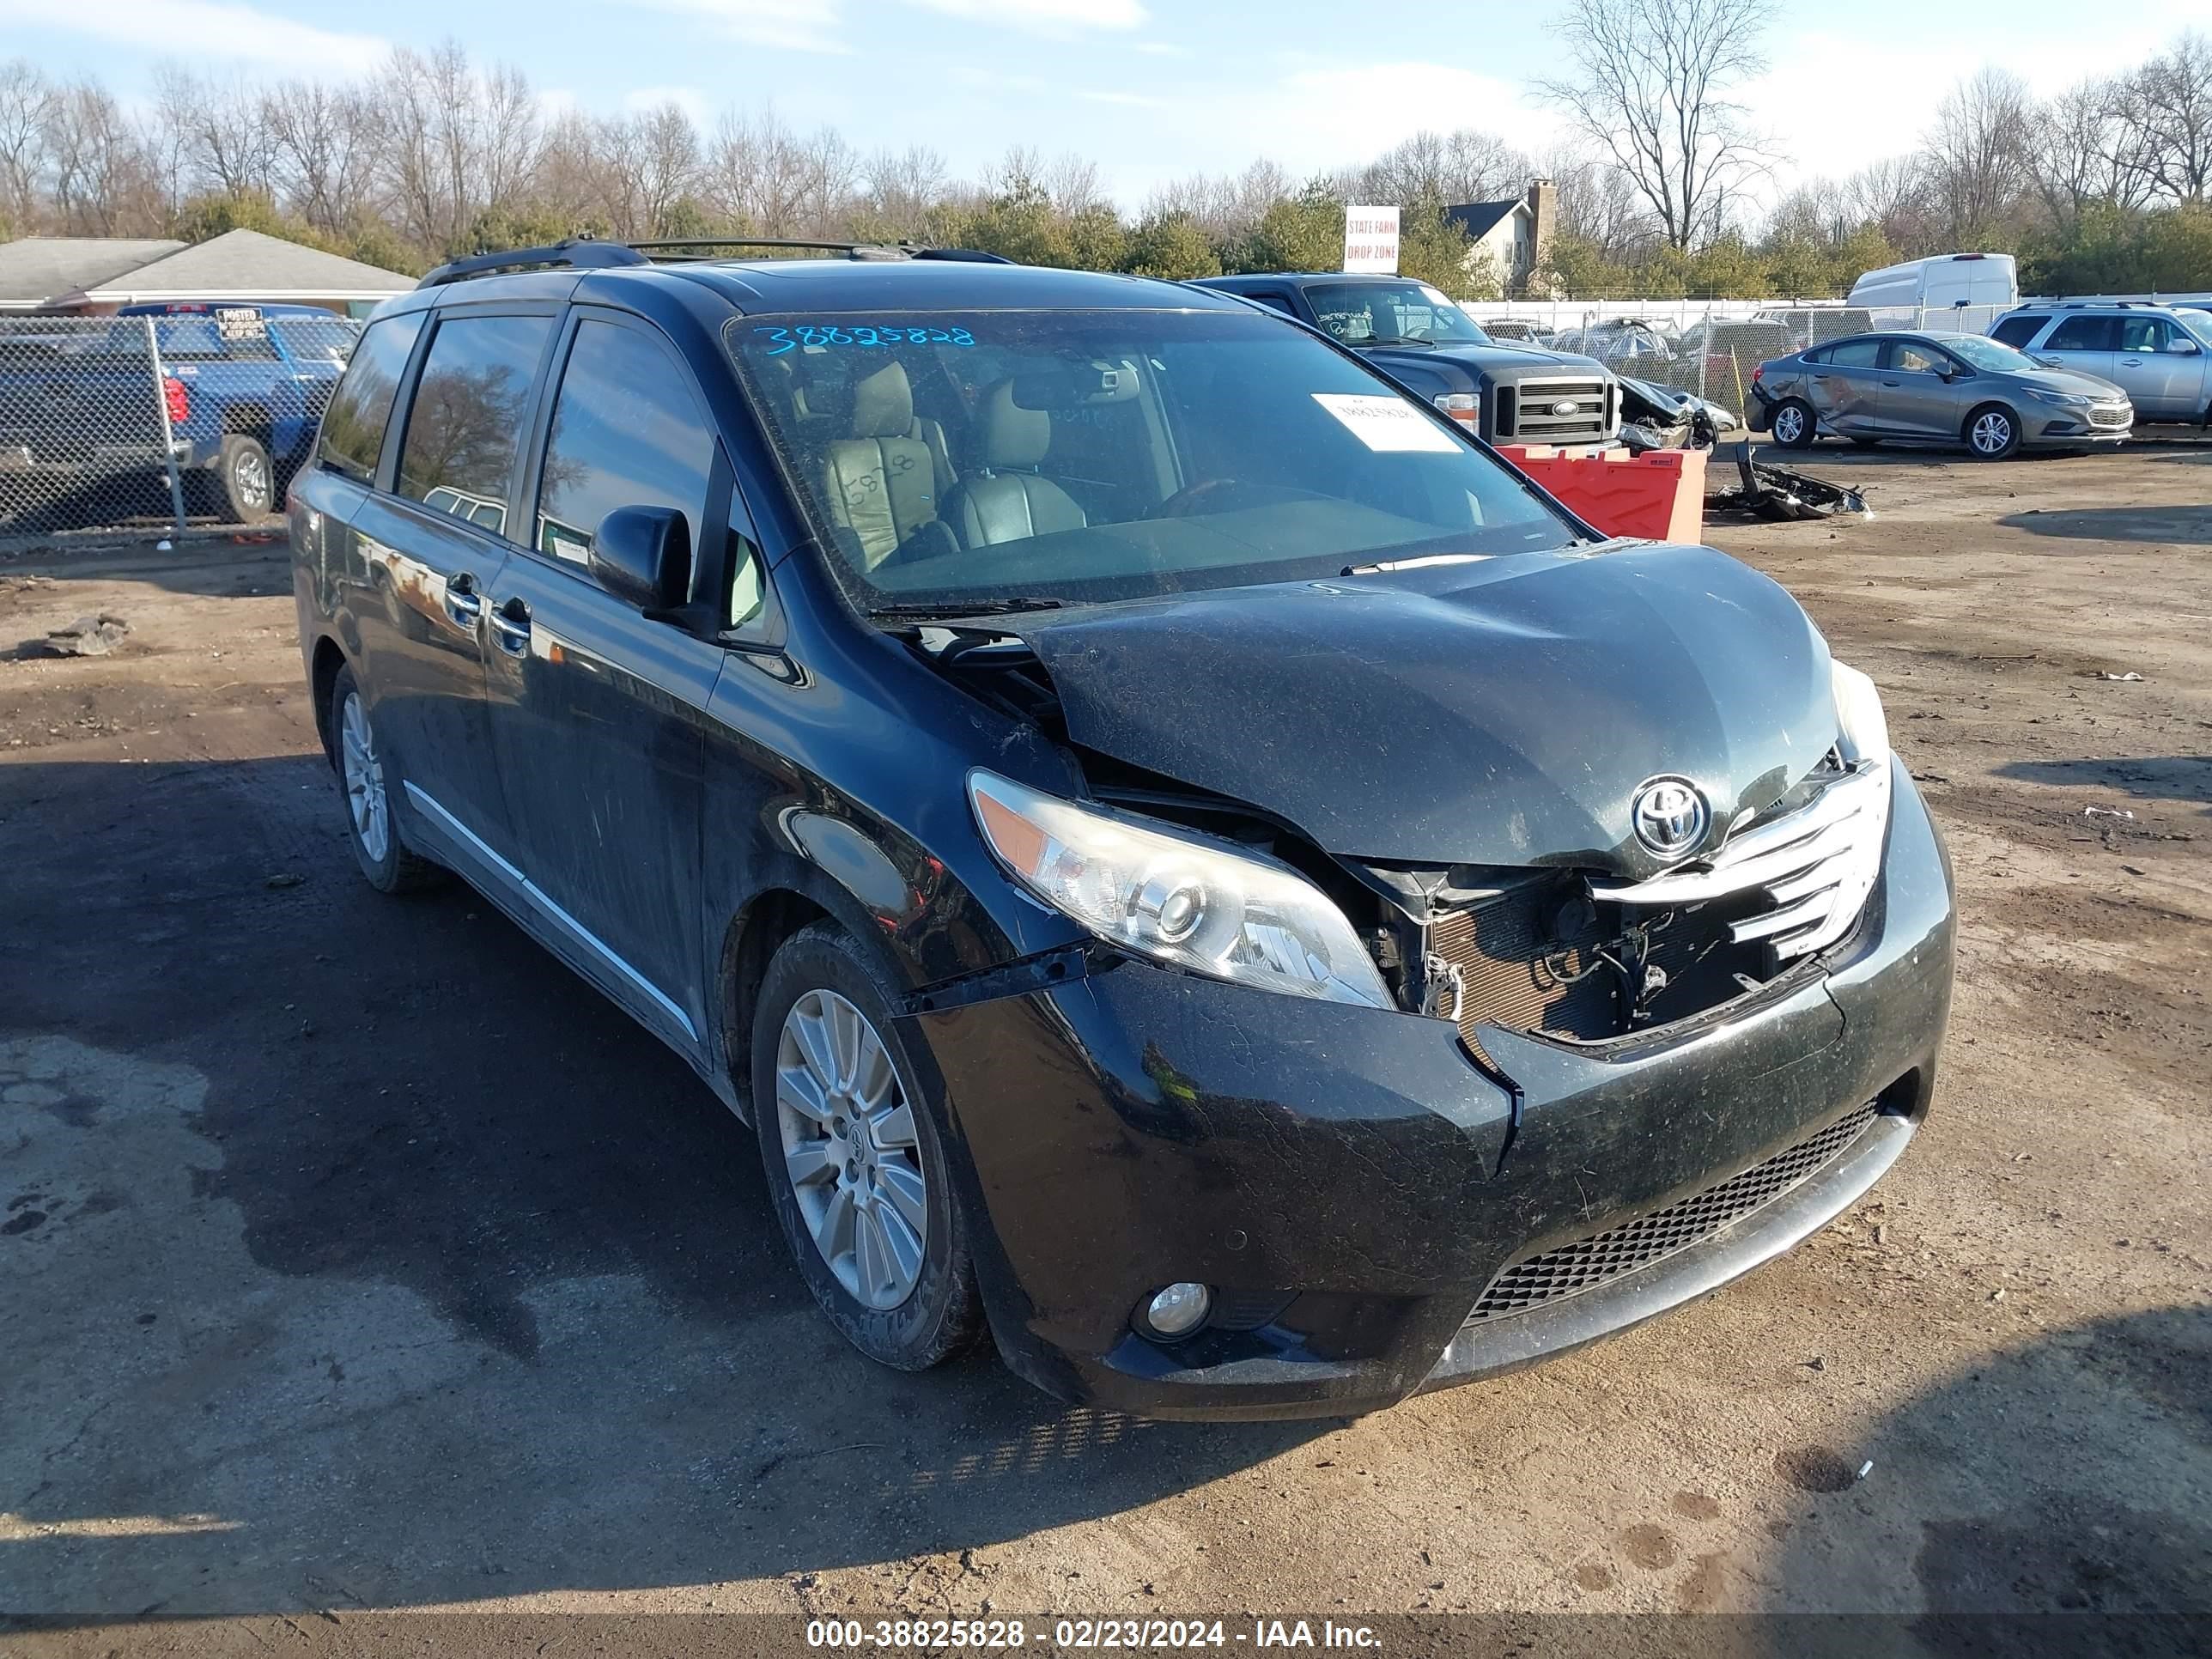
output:
{"label": "buckled black hood of the Toyota minivan", "polygon": [[1836,741],[1827,641],[1705,546],[1628,544],[1006,617],[1068,737],[1347,858],[1661,869],[1630,799],[1719,827]]}

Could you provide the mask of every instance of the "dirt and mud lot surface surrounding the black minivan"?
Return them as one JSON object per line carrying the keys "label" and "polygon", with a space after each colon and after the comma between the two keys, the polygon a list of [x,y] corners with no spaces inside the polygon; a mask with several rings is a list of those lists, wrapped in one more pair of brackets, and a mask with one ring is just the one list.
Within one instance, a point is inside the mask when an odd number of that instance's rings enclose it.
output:
{"label": "dirt and mud lot surface surrounding the black minivan", "polygon": [[1936,1115],[1728,1292],[1349,1425],[869,1367],[684,1064],[354,874],[279,544],[0,564],[0,650],[131,622],[0,661],[0,1608],[2212,1615],[2212,447],[1812,467],[1878,518],[1710,535],[1949,836]]}

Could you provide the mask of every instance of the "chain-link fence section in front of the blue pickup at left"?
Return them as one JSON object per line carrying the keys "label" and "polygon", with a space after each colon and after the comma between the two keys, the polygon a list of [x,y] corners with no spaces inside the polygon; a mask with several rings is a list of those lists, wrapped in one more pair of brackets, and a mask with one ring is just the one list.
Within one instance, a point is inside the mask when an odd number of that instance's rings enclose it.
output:
{"label": "chain-link fence section in front of the blue pickup at left", "polygon": [[0,538],[270,520],[356,338],[276,305],[0,316]]}

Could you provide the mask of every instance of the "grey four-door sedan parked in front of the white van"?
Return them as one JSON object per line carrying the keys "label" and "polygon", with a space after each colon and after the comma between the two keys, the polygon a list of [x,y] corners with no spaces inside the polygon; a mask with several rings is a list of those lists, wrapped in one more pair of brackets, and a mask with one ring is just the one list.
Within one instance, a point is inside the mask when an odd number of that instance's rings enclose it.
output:
{"label": "grey four-door sedan parked in front of the white van", "polygon": [[2044,367],[1980,334],[1856,334],[1761,363],[1745,416],[1785,449],[1829,431],[1856,445],[1962,442],[1982,460],[2112,445],[2135,425],[2110,380]]}

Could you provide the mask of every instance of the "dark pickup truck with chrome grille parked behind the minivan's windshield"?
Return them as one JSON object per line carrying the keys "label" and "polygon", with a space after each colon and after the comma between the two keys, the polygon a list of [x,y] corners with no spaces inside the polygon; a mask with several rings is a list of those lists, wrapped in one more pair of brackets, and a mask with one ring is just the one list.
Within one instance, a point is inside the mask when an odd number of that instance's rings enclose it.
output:
{"label": "dark pickup truck with chrome grille parked behind the minivan's windshield", "polygon": [[1489,442],[1593,445],[1610,442],[1621,427],[1619,383],[1595,356],[1493,341],[1440,290],[1411,276],[1276,272],[1206,276],[1197,285],[1327,330]]}

